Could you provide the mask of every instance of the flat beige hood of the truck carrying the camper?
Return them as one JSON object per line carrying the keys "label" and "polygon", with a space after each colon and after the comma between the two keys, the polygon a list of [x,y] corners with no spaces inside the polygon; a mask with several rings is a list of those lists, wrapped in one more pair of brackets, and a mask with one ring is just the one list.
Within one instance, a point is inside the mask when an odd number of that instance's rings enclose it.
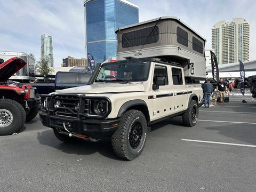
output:
{"label": "flat beige hood of the truck carrying the camper", "polygon": [[65,90],[59,90],[59,93],[74,94],[97,94],[97,93],[125,93],[145,91],[143,85],[135,83],[95,83],[80,87],[73,87]]}

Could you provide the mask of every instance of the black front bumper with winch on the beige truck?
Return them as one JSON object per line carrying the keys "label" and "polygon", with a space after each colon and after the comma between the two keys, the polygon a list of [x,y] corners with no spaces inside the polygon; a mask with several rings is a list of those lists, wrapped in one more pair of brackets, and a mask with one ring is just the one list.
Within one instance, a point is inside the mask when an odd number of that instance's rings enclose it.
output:
{"label": "black front bumper with winch on the beige truck", "polygon": [[[63,133],[74,133],[75,135],[86,135],[93,139],[102,139],[112,135],[119,125],[116,119],[86,119],[72,118],[55,114],[39,112],[40,121],[44,126],[56,129]],[[67,132],[67,130],[68,132]]]}

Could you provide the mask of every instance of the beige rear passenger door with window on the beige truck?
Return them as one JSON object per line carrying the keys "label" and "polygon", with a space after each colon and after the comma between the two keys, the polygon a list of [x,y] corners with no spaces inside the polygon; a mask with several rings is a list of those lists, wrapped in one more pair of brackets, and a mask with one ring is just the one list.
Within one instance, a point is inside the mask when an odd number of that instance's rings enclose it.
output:
{"label": "beige rear passenger door with window on the beige truck", "polygon": [[188,91],[184,81],[183,70],[179,67],[171,68],[172,90],[174,92],[174,111],[175,113],[187,109]]}

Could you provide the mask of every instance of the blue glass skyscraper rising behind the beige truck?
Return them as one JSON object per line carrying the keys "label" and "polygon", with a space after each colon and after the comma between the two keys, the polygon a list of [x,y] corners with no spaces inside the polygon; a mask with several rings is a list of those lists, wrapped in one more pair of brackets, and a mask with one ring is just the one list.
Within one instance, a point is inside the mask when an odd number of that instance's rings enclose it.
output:
{"label": "blue glass skyscraper rising behind the beige truck", "polygon": [[116,57],[115,29],[139,22],[139,8],[125,0],[85,0],[87,52],[95,63]]}

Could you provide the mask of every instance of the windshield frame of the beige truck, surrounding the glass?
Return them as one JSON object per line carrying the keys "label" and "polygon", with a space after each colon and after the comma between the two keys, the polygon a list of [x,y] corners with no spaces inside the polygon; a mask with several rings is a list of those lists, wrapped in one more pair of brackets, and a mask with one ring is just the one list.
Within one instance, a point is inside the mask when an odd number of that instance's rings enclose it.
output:
{"label": "windshield frame of the beige truck, surrounding the glass", "polygon": [[[144,65],[148,65],[148,69],[147,69],[147,77],[145,79],[143,79],[143,81],[141,79],[138,79],[137,81],[134,81],[135,79],[126,79],[126,78],[118,78],[116,80],[106,80],[106,79],[97,79],[98,76],[101,73],[101,69],[107,65],[130,65],[130,64],[134,64],[134,63],[141,63]],[[107,63],[103,63],[97,73],[97,76],[95,76],[95,83],[120,83],[120,82],[125,82],[125,83],[129,83],[129,82],[147,82],[148,78],[149,78],[149,73],[150,73],[150,68],[151,68],[151,61],[150,60],[125,60],[125,61],[116,61],[116,62],[107,62]],[[117,78],[117,77],[116,77]]]}

